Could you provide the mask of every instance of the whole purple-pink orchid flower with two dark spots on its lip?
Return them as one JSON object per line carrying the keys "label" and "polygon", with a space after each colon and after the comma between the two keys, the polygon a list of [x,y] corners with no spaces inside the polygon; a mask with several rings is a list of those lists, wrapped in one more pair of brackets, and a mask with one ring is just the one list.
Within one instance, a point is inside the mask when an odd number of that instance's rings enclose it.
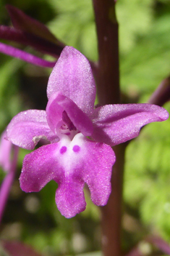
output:
{"label": "whole purple-pink orchid flower with two dark spots on its lip", "polygon": [[[65,47],[48,81],[46,111],[29,110],[14,116],[7,137],[25,156],[20,186],[40,191],[55,180],[56,205],[65,217],[85,209],[84,183],[91,199],[105,205],[111,193],[111,168],[116,160],[111,146],[136,137],[143,125],[163,121],[164,108],[148,104],[104,105],[94,109],[95,81],[88,60],[76,49]],[[88,138],[89,137],[89,138]]]}

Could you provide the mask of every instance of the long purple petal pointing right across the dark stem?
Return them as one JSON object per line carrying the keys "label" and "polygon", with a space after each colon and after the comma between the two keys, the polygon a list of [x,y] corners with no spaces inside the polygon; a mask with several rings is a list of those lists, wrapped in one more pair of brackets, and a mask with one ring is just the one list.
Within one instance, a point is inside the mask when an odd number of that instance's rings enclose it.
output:
{"label": "long purple petal pointing right across the dark stem", "polygon": [[93,140],[111,146],[137,137],[140,128],[154,121],[165,121],[169,113],[158,105],[105,105],[93,112]]}

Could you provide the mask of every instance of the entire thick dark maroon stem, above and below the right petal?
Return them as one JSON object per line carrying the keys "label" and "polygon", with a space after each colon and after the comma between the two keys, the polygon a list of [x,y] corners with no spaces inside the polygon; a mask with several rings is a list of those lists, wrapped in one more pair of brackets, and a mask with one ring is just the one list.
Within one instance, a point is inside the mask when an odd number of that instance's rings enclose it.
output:
{"label": "entire thick dark maroon stem, above and below the right petal", "polygon": [[[93,0],[98,34],[98,87],[99,104],[120,103],[119,46],[114,0]],[[101,208],[104,255],[121,255],[122,177],[125,145],[114,147],[116,163],[112,173],[112,192],[108,204]]]}

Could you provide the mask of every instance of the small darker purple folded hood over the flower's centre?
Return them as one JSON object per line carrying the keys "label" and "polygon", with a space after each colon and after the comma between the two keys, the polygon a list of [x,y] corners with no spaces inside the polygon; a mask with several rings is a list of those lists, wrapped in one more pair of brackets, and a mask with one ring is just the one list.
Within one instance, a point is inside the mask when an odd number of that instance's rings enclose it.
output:
{"label": "small darker purple folded hood over the flower's centre", "polygon": [[62,119],[63,111],[67,112],[69,119],[75,127],[85,136],[92,135],[93,123],[88,116],[81,111],[77,105],[60,92],[52,95],[46,106],[47,121],[51,130],[55,132],[56,125]]}

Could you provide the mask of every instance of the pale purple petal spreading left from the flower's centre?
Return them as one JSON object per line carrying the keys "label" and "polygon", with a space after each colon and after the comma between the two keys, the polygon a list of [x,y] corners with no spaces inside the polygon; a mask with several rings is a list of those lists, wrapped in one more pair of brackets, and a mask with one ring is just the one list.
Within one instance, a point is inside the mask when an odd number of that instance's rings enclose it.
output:
{"label": "pale purple petal spreading left from the flower's centre", "polygon": [[14,116],[7,127],[7,139],[21,148],[33,149],[41,138],[56,141],[46,121],[46,111],[29,110]]}

